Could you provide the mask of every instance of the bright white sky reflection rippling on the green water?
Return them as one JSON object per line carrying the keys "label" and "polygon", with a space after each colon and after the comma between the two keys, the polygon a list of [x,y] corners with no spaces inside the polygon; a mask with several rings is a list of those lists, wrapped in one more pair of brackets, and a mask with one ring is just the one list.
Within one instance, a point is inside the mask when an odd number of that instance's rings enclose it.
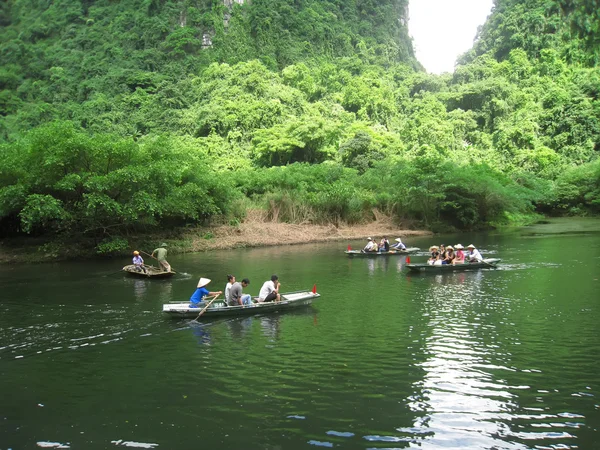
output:
{"label": "bright white sky reflection rippling on the green water", "polygon": [[480,283],[481,275],[451,275],[436,276],[426,299],[427,359],[417,364],[425,375],[414,384],[417,394],[408,399],[417,413],[411,430],[433,445],[454,441],[453,448],[527,448],[518,443],[507,447],[499,439],[508,431],[499,419],[515,408],[515,399],[506,382],[490,373],[502,369],[493,363],[498,349],[486,345],[497,337],[495,325],[482,325],[474,314],[480,297],[454,289],[468,277],[471,293],[476,293],[479,287],[471,283]]}

